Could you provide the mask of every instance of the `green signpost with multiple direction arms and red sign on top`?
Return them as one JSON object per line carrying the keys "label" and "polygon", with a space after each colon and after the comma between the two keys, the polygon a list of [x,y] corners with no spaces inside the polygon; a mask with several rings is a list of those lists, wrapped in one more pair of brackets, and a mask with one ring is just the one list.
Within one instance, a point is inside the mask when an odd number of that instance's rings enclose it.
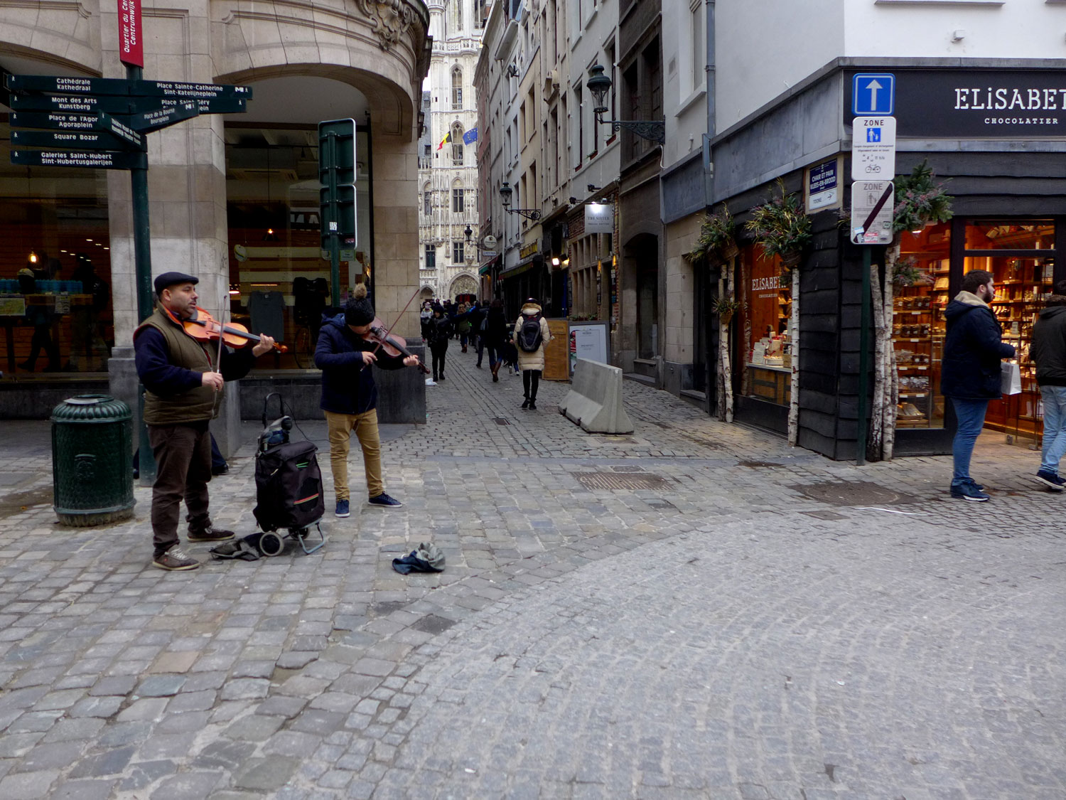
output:
{"label": "green signpost with multiple direction arms and red sign on top", "polygon": [[[138,317],[143,321],[152,313],[145,134],[199,114],[243,112],[252,89],[144,80],[141,0],[118,0],[117,11],[118,59],[126,65],[125,79],[5,76],[11,92],[11,161],[130,171]],[[141,403],[138,416],[143,420],[143,397]],[[141,483],[151,485],[156,462],[143,421],[140,428]]]}

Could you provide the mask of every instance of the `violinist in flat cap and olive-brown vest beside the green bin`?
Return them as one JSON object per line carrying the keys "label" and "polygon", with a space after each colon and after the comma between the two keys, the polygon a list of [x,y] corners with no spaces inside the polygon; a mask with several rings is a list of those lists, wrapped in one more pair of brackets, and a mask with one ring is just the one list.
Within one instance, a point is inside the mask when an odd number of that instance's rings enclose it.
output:
{"label": "violinist in flat cap and olive-brown vest beside the green bin", "polygon": [[195,570],[200,563],[178,546],[182,498],[190,542],[232,539],[233,532],[215,528],[208,514],[208,425],[217,416],[224,382],[246,375],[255,358],[274,347],[274,340],[262,335],[255,347],[230,350],[217,340],[187,334],[182,322],[196,315],[198,282],[182,272],[157,277],[156,310],[133,332],[136,371],[145,387],[144,421],[156,457],[151,564],[160,570]]}

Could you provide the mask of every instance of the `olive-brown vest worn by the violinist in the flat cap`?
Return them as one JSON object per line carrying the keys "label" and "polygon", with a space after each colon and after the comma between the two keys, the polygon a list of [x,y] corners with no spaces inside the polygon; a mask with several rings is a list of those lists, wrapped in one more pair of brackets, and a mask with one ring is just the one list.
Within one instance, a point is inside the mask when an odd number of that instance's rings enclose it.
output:
{"label": "olive-brown vest worn by the violinist in the flat cap", "polygon": [[[133,332],[133,337],[136,338],[138,331],[149,325],[163,334],[171,364],[194,372],[211,371],[207,346],[187,334],[162,308],[157,306],[156,313]],[[165,397],[145,389],[144,421],[146,425],[179,425],[213,419],[219,415],[222,395],[210,386],[197,386],[180,395]]]}

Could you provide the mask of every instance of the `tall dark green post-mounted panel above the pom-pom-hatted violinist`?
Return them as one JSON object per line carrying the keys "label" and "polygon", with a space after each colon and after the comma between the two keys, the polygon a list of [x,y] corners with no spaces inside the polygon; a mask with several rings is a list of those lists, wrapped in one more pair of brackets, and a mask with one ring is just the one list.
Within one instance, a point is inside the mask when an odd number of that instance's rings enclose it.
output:
{"label": "tall dark green post-mounted panel above the pom-pom-hatted violinist", "polygon": [[355,250],[355,119],[319,123],[322,249],[329,251],[329,288],[340,305],[340,245]]}

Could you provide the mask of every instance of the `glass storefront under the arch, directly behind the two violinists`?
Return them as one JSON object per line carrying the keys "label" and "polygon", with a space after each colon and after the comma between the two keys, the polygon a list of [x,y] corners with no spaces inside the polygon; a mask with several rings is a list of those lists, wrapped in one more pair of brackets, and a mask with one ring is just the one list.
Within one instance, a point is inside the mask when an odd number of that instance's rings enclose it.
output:
{"label": "glass storefront under the arch, directly behind the two violinists", "polygon": [[[332,304],[321,249],[316,126],[226,126],[230,319],[285,342],[275,367],[309,369],[322,313]],[[355,242],[341,249],[340,299],[373,287],[369,133],[356,132]]]}

